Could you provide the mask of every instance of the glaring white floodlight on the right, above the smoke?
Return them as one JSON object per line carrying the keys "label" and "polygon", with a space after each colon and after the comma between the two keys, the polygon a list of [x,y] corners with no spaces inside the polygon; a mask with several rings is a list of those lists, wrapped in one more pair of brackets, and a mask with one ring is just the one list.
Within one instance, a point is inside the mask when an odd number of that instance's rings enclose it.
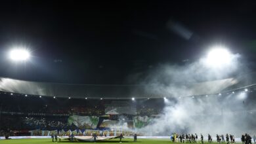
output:
{"label": "glaring white floodlight on the right, above the smoke", "polygon": [[223,67],[232,62],[230,52],[223,46],[213,46],[206,58],[207,65],[211,67]]}

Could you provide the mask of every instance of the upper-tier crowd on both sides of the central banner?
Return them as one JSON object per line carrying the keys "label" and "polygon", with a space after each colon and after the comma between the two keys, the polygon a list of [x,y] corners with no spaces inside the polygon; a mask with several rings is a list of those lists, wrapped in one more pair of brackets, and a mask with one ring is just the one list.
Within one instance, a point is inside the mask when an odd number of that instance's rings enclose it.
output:
{"label": "upper-tier crowd on both sides of the central banner", "polygon": [[[131,102],[129,100],[126,100]],[[155,101],[154,101],[155,102]],[[163,102],[160,100],[160,102]],[[110,99],[67,99],[39,96],[11,95],[10,93],[0,94],[1,113],[12,113],[19,115],[86,115],[102,116],[106,114],[106,105],[112,105]],[[160,104],[162,105],[162,104]],[[150,116],[161,113],[163,107],[158,103],[145,104],[137,103],[135,115]],[[123,115],[129,115],[125,111]]]}

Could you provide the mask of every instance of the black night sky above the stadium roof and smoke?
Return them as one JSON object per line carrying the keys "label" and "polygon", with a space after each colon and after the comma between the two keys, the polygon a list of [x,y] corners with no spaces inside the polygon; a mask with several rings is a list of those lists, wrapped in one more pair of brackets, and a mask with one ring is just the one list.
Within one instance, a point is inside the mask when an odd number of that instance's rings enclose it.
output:
{"label": "black night sky above the stadium roof and smoke", "polygon": [[[1,1],[0,76],[30,81],[131,84],[158,63],[196,60],[214,43],[255,62],[256,3],[234,1]],[[168,22],[188,29],[184,39]],[[13,45],[31,62],[6,57]],[[136,82],[133,82],[136,83]]]}

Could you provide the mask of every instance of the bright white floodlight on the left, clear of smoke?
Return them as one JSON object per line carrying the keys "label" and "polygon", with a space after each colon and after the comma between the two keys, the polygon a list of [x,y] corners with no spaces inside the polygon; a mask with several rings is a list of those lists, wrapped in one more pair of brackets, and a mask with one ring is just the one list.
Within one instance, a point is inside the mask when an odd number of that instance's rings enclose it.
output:
{"label": "bright white floodlight on the left, clear of smoke", "polygon": [[30,52],[26,48],[14,48],[10,51],[9,57],[16,62],[26,61],[30,58]]}

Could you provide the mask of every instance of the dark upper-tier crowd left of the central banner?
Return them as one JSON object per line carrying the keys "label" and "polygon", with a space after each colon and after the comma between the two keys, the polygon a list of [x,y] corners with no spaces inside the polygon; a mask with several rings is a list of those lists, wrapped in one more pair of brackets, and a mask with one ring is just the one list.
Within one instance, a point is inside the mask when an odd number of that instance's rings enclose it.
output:
{"label": "dark upper-tier crowd left of the central banner", "polygon": [[104,105],[98,101],[81,99],[39,98],[38,96],[7,96],[1,94],[2,113],[22,113],[28,115],[96,115],[104,114]]}

